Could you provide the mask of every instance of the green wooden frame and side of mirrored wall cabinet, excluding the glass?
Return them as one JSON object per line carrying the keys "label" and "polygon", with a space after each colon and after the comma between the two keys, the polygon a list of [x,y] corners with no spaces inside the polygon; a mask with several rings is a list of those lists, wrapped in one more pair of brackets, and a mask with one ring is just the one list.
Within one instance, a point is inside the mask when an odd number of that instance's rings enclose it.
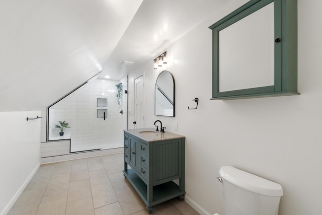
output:
{"label": "green wooden frame and side of mirrored wall cabinet, excluding the glass", "polygon": [[[274,2],[274,85],[219,92],[219,31]],[[297,92],[297,1],[251,0],[209,27],[212,30],[212,98],[299,95]],[[247,50],[246,50],[247,51]]]}

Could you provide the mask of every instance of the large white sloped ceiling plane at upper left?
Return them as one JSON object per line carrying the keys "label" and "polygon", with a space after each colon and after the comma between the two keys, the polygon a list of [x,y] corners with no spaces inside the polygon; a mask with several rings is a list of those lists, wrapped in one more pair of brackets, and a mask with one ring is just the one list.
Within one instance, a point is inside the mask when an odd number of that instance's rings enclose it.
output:
{"label": "large white sloped ceiling plane at upper left", "polygon": [[99,73],[142,1],[0,1],[0,111],[41,110]]}

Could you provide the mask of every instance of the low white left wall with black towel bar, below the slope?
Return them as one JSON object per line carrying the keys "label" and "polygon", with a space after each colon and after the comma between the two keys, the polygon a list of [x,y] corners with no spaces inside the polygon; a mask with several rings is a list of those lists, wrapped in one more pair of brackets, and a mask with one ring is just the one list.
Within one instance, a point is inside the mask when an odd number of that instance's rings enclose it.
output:
{"label": "low white left wall with black towel bar, below the slope", "polygon": [[40,165],[41,111],[0,112],[0,214],[6,214]]}

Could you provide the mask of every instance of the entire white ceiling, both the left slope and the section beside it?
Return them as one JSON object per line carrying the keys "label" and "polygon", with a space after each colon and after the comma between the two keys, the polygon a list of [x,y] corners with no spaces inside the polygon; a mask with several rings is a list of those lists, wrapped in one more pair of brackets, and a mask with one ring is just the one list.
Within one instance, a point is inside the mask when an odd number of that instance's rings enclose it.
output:
{"label": "entire white ceiling, both the left slope and the section beside it", "polygon": [[227,2],[0,0],[0,112],[41,110],[100,71],[119,80],[123,60],[146,62]]}

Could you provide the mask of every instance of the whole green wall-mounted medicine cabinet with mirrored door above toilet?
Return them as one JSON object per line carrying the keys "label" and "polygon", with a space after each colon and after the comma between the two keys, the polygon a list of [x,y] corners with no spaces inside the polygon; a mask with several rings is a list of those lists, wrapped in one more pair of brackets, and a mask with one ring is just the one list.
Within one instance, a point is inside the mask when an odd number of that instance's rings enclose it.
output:
{"label": "whole green wall-mounted medicine cabinet with mirrored door above toilet", "polygon": [[212,99],[299,94],[296,0],[252,0],[209,28]]}

